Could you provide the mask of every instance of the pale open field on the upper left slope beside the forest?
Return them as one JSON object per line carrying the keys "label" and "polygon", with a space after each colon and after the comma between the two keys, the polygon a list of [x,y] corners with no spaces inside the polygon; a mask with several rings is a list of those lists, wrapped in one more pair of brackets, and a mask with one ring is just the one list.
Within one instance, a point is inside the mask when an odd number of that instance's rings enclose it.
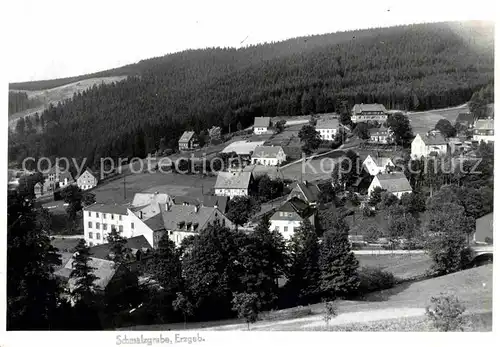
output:
{"label": "pale open field on the upper left slope beside the forest", "polygon": [[9,126],[15,126],[15,120],[20,117],[30,116],[36,112],[41,113],[43,110],[49,106],[49,104],[57,104],[59,101],[63,101],[73,97],[74,93],[83,92],[91,88],[95,84],[101,83],[113,83],[118,82],[127,78],[127,76],[113,76],[113,77],[101,77],[101,78],[89,78],[82,81],[66,84],[60,87],[45,89],[45,90],[10,90],[11,92],[24,92],[28,95],[30,99],[38,99],[43,105],[24,110],[22,112],[17,112],[9,116]]}

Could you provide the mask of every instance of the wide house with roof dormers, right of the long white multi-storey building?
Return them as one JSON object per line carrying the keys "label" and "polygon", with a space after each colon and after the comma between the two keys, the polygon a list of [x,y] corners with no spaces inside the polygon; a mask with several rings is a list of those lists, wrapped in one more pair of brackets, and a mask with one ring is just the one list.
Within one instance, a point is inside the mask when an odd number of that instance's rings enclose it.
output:
{"label": "wide house with roof dormers, right of the long white multi-storey building", "polygon": [[186,237],[198,234],[208,224],[234,228],[234,224],[217,207],[173,204],[165,204],[161,207],[163,226],[169,239],[177,247]]}

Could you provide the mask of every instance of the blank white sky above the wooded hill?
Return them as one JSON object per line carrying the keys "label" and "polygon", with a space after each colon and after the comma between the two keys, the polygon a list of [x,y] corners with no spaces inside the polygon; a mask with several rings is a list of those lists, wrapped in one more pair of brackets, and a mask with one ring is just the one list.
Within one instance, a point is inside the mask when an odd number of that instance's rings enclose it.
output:
{"label": "blank white sky above the wooded hill", "polygon": [[493,6],[491,0],[8,1],[1,10],[9,48],[4,68],[9,82],[53,79],[185,49],[409,23],[494,20]]}

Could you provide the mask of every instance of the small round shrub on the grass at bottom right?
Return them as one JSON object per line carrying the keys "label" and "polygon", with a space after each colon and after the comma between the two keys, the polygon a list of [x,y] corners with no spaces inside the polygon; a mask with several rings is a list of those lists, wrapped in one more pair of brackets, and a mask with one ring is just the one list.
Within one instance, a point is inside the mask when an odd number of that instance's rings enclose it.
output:
{"label": "small round shrub on the grass at bottom right", "polygon": [[425,308],[426,316],[439,331],[463,330],[465,306],[454,295],[441,294],[431,298],[431,304]]}

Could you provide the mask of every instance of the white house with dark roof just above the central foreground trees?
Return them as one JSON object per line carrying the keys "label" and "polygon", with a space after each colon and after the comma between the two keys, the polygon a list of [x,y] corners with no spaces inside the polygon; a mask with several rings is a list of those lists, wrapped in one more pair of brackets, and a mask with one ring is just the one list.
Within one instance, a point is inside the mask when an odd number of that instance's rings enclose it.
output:
{"label": "white house with dark roof just above the central foreground trees", "polygon": [[316,210],[314,208],[310,207],[305,201],[293,197],[274,212],[269,219],[271,223],[269,229],[280,232],[285,240],[290,240],[294,232],[300,228],[306,219],[314,226],[315,217]]}

